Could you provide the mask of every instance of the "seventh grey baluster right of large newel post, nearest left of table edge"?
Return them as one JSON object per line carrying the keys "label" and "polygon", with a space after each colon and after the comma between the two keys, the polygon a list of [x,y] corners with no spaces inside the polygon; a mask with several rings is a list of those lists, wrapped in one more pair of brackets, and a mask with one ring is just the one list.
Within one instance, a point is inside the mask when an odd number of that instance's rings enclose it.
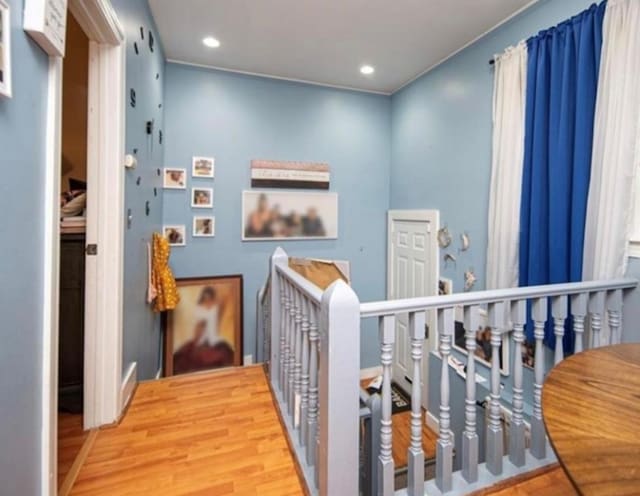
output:
{"label": "seventh grey baluster right of large newel post, nearest left of table edge", "polygon": [[531,418],[531,454],[542,459],[546,456],[547,443],[542,422],[542,382],[544,381],[544,324],[547,321],[547,299],[538,298],[532,306],[535,352],[535,383],[533,390],[533,417]]}

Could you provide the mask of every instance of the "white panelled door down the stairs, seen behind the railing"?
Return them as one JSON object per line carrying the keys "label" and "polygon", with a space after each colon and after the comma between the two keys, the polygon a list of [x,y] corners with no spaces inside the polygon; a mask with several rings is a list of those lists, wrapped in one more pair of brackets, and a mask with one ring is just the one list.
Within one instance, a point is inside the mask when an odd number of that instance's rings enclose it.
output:
{"label": "white panelled door down the stairs, seen behind the railing", "polygon": [[[438,294],[438,212],[389,212],[388,297],[416,298]],[[407,314],[396,318],[393,380],[405,391],[414,381]],[[427,315],[427,326],[434,329],[433,316]],[[423,346],[422,403],[427,404],[428,358],[431,349],[428,329]]]}

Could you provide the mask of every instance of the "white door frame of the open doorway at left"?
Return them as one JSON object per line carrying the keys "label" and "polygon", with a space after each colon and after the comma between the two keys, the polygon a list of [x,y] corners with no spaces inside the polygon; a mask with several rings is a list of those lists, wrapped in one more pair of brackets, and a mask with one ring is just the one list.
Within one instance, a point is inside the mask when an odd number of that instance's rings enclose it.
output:
{"label": "white door frame of the open doorway at left", "polygon": [[[124,259],[124,29],[110,0],[69,0],[89,38],[87,174],[96,198],[87,199],[85,276],[84,427],[115,422],[122,401],[122,280]],[[41,494],[57,494],[58,315],[62,57],[49,57],[44,187]]]}

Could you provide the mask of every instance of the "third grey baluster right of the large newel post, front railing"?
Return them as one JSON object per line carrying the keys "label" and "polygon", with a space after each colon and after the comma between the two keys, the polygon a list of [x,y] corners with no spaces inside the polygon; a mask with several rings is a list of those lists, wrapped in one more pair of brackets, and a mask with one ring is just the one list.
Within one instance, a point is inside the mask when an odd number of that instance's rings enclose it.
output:
{"label": "third grey baluster right of the large newel post, front railing", "polygon": [[455,328],[454,309],[444,308],[438,312],[440,333],[440,436],[436,445],[436,486],[443,493],[453,485],[453,436],[451,433],[451,407],[449,406],[449,355]]}

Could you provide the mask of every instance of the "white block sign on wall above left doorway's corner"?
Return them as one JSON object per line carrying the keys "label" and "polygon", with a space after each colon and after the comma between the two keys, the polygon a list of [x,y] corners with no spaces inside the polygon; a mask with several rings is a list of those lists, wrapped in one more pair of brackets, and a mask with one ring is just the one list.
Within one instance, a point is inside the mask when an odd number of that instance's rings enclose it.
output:
{"label": "white block sign on wall above left doorway's corner", "polygon": [[67,0],[26,0],[24,30],[49,55],[64,57]]}

